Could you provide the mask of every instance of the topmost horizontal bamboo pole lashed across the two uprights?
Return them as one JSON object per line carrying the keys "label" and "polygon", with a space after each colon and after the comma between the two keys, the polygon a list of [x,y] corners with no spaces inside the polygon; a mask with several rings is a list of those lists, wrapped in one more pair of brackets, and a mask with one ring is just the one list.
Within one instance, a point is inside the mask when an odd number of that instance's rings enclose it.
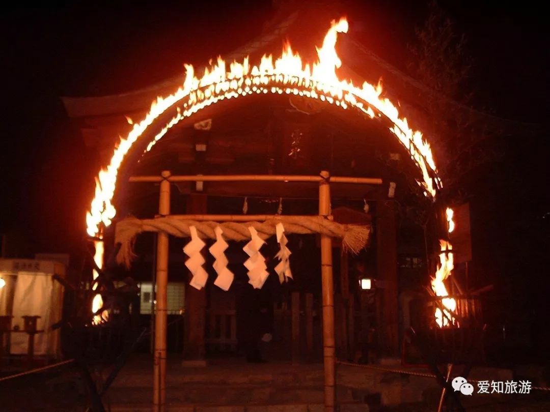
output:
{"label": "topmost horizontal bamboo pole lashed across the two uprights", "polygon": [[[323,180],[321,176],[307,175],[188,175],[188,176],[131,176],[129,182],[312,182],[318,183]],[[379,177],[345,177],[334,176],[330,178],[331,183],[353,183],[359,185],[382,185]]]}

